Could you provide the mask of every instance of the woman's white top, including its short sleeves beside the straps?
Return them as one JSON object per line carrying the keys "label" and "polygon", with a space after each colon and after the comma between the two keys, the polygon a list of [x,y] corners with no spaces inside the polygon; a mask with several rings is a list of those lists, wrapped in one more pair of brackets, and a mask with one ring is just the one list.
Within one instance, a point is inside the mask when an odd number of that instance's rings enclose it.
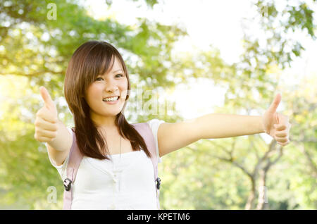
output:
{"label": "woman's white top, including its short sleeves beside the straps", "polygon": [[[164,121],[153,119],[147,123],[159,155],[157,130]],[[82,158],[72,185],[71,209],[158,209],[151,158],[143,150],[123,153],[121,158],[120,154],[110,155],[109,158],[111,161],[87,156]],[[65,180],[68,157],[61,166],[56,166],[50,156],[49,161]]]}

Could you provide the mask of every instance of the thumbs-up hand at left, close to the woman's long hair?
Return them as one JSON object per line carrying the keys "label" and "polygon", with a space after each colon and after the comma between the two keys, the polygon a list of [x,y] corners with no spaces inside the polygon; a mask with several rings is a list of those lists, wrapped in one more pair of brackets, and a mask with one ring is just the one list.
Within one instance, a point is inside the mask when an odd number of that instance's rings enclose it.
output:
{"label": "thumbs-up hand at left, close to the woman's long hair", "polygon": [[45,87],[40,87],[39,92],[44,106],[36,113],[34,137],[39,142],[51,142],[57,135],[57,109]]}

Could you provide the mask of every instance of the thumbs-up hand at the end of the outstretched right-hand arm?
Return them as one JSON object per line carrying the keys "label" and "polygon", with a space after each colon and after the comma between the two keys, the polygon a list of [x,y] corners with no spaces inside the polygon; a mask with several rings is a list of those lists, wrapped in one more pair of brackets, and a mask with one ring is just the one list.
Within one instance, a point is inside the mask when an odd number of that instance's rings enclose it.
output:
{"label": "thumbs-up hand at the end of the outstretched right-hand arm", "polygon": [[263,114],[263,128],[268,135],[273,137],[282,147],[290,143],[289,118],[276,112],[281,101],[281,95],[277,94],[271,106]]}

